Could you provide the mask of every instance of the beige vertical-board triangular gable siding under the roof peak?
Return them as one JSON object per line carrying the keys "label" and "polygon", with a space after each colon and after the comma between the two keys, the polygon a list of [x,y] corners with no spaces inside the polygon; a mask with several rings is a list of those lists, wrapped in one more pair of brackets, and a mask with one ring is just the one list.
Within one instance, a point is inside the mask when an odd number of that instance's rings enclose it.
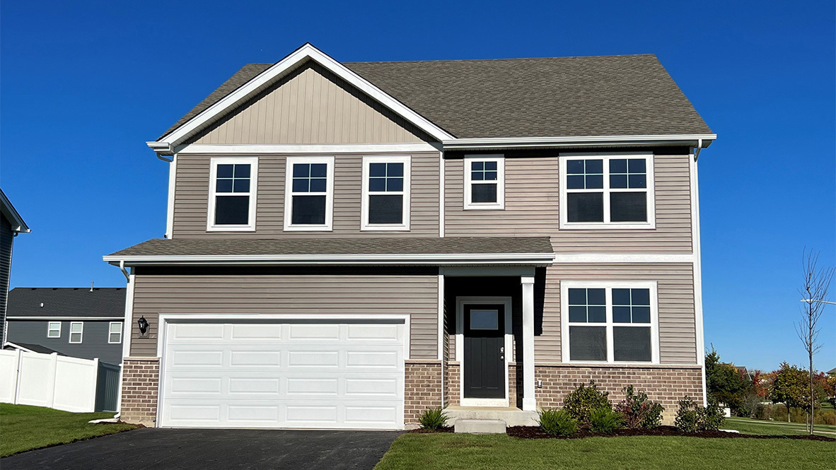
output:
{"label": "beige vertical-board triangular gable siding under the roof peak", "polygon": [[417,143],[424,141],[422,135],[400,116],[314,64],[242,104],[190,143]]}

